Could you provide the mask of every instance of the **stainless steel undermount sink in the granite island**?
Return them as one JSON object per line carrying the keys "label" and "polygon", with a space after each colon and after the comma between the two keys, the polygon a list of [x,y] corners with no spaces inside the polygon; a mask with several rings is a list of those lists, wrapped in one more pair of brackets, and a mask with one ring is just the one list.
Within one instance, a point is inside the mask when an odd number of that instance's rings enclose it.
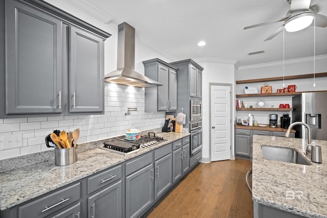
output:
{"label": "stainless steel undermount sink in the granite island", "polygon": [[261,146],[264,159],[272,161],[283,161],[302,165],[311,165],[299,152],[292,148]]}

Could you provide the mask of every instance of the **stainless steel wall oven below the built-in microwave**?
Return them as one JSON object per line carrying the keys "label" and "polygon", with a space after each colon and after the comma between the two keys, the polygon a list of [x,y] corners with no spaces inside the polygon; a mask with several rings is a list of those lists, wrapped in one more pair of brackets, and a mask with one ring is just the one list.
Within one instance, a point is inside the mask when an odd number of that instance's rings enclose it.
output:
{"label": "stainless steel wall oven below the built-in microwave", "polygon": [[202,148],[202,120],[190,123],[191,130],[191,155]]}

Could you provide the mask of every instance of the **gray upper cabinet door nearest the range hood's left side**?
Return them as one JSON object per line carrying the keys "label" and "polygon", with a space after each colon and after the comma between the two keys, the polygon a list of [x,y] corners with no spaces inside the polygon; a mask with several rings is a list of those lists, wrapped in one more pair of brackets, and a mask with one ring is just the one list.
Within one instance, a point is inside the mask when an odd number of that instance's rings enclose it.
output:
{"label": "gray upper cabinet door nearest the range hood's left side", "polygon": [[69,112],[102,112],[104,42],[70,27]]}

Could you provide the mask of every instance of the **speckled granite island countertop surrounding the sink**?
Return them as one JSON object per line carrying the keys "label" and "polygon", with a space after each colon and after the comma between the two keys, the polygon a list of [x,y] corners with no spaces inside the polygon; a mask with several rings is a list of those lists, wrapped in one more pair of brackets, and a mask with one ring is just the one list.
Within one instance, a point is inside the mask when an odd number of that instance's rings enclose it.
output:
{"label": "speckled granite island countertop surrounding the sink", "polygon": [[[312,141],[322,147],[321,164],[303,154],[305,139],[253,136],[254,202],[306,217],[327,217],[327,141]],[[262,145],[294,148],[312,165],[266,160]]]}

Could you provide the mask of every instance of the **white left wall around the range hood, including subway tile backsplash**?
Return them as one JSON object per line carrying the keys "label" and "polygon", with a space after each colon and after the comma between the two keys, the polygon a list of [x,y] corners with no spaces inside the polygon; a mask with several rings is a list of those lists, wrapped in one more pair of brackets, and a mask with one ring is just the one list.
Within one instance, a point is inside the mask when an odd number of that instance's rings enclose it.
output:
{"label": "white left wall around the range hood, including subway tile backsplash", "polygon": [[[107,24],[101,23],[63,1],[46,0],[46,2],[112,34],[105,41],[104,73],[116,69],[118,24],[114,24],[112,21]],[[138,37],[136,30],[135,70],[144,74],[142,61],[152,58],[160,58],[167,62],[176,61],[176,58],[167,52],[160,51],[159,48],[153,47],[151,42],[141,36]],[[51,149],[45,146],[44,138],[54,129],[72,131],[80,128],[81,134],[78,143],[84,143],[124,135],[126,130],[131,127],[146,130],[164,125],[165,113],[144,112],[144,89],[105,83],[104,95],[104,115],[0,119],[0,160]],[[136,106],[137,112],[131,112],[131,115],[125,116],[127,107],[130,106]],[[21,142],[18,145],[13,145],[13,142],[8,143],[8,136],[11,135],[17,136]]]}

